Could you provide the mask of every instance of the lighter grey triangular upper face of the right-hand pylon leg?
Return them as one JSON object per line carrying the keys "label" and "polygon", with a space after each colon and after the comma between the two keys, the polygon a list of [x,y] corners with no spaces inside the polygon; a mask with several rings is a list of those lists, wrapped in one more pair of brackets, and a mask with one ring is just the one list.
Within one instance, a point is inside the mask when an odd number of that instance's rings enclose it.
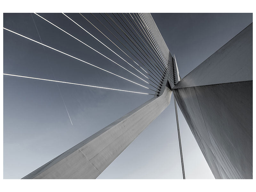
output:
{"label": "lighter grey triangular upper face of the right-hand pylon leg", "polygon": [[250,80],[252,80],[252,23],[191,71],[174,88]]}

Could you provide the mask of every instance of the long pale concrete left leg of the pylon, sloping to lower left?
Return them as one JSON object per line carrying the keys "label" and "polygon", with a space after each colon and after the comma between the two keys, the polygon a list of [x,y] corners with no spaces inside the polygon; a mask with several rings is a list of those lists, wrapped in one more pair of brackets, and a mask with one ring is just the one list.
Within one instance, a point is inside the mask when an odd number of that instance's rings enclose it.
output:
{"label": "long pale concrete left leg of the pylon, sloping to lower left", "polygon": [[170,104],[164,88],[140,107],[44,164],[22,179],[95,179]]}

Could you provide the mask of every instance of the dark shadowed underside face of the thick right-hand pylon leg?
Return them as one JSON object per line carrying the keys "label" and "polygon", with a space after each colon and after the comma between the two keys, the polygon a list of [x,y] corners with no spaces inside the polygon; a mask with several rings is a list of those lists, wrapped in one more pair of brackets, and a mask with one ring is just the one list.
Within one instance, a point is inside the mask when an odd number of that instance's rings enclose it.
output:
{"label": "dark shadowed underside face of the thick right-hand pylon leg", "polygon": [[252,81],[173,93],[215,178],[252,179]]}

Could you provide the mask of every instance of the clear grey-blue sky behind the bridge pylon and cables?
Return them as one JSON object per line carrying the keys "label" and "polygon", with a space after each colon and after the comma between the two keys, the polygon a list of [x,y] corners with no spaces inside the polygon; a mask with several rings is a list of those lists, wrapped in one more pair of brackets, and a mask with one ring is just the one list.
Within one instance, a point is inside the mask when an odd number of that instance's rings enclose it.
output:
{"label": "clear grey-blue sky behind the bridge pylon and cables", "polygon": [[[63,14],[40,15],[137,74],[137,71]],[[81,15],[67,15],[128,60]],[[100,14],[95,15],[104,22]],[[84,16],[100,30],[104,30],[92,15],[85,13]],[[152,13],[152,16],[172,55],[176,56],[181,77],[187,75],[252,22],[252,14],[249,13]],[[137,77],[35,14],[33,18],[44,44],[146,86]],[[106,22],[104,24],[107,25]],[[4,27],[40,41],[30,13],[5,13]],[[104,32],[114,40],[110,33],[106,30]],[[114,31],[113,33],[118,35]],[[5,30],[4,73],[153,93],[49,48],[44,49],[42,45]],[[152,95],[78,85],[59,83],[58,86],[54,82],[4,76],[5,179],[24,177],[152,98]],[[212,179],[213,175],[180,109],[178,113],[186,178]],[[173,96],[171,104],[164,112],[98,177],[181,178]]]}

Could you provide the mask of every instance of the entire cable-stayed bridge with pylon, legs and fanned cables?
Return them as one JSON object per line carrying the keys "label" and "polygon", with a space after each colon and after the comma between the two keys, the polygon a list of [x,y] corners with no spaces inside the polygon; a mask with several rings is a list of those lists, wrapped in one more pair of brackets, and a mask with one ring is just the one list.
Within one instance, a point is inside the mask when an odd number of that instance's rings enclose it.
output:
{"label": "entire cable-stayed bridge with pylon, legs and fanned cables", "polygon": [[[252,24],[230,40],[227,45],[224,45],[220,50],[214,53],[209,59],[199,65],[198,68],[194,70],[194,73],[192,71],[188,76],[180,81],[175,56],[171,55],[151,14],[105,13],[100,14],[100,17],[96,16],[96,14],[92,14],[92,17],[94,18],[94,21],[92,21],[88,19],[87,15],[79,13],[79,16],[82,17],[85,22],[88,22],[92,28],[95,28],[95,31],[98,31],[98,33],[105,37],[104,42],[100,40],[98,36],[90,33],[81,24],[76,22],[75,19],[68,16],[68,14],[62,14],[77,28],[82,29],[84,34],[91,36],[99,44],[101,44],[101,46],[108,49],[111,54],[114,54],[115,59],[113,59],[112,56],[107,55],[105,52],[97,50],[94,48],[94,45],[88,44],[77,36],[72,35],[71,32],[57,26],[53,21],[44,18],[42,15],[37,13],[31,14],[31,17],[34,21],[40,41],[9,28],[4,27],[4,30],[13,34],[14,36],[19,36],[20,38],[40,44],[44,47],[44,49],[50,49],[56,52],[56,54],[62,54],[63,57],[72,58],[84,63],[85,65],[95,68],[95,70],[100,70],[104,73],[115,76],[119,78],[120,81],[126,81],[133,86],[140,87],[140,90],[143,91],[126,90],[115,87],[102,87],[95,84],[80,84],[77,82],[62,81],[56,78],[45,79],[35,76],[24,76],[21,74],[4,73],[4,76],[55,82],[56,84],[73,84],[95,89],[127,92],[129,94],[153,95],[153,98],[138,108],[135,108],[125,116],[119,118],[112,124],[109,124],[99,132],[93,134],[91,137],[80,142],[73,148],[70,148],[60,156],[52,159],[42,167],[39,167],[35,171],[25,176],[23,179],[97,178],[100,173],[104,171],[107,166],[148,126],[148,124],[150,124],[170,104],[172,91],[174,92],[177,103],[179,104],[182,113],[185,116],[189,127],[193,132],[215,178],[252,177],[252,118],[250,118],[252,116],[252,109],[250,108],[250,103],[252,103],[252,71],[250,70],[252,66],[252,60],[250,60],[252,57],[250,55],[250,51],[252,49],[252,44],[250,44],[252,37]],[[116,68],[124,70],[126,73],[133,76],[133,78],[126,78],[115,71],[108,70],[95,63],[80,59],[71,53],[61,51],[60,47],[57,48],[44,43],[41,39],[42,34],[40,34],[39,30],[37,29],[38,26],[36,25],[34,17],[44,20],[44,22],[48,25],[57,28],[61,33],[64,33],[73,40],[83,44],[83,46],[86,46],[88,49],[95,52],[98,57],[102,57],[110,61],[116,65]],[[104,31],[102,29],[104,29]],[[239,48],[239,50],[237,50],[237,48]],[[239,52],[240,55],[237,54],[237,52]],[[120,53],[122,53],[122,55]],[[245,56],[247,60],[244,59]],[[236,67],[238,65],[238,59],[236,59],[237,57],[244,60],[244,65],[242,68]],[[122,64],[121,62],[118,62],[116,58],[122,60]],[[125,63],[125,65],[123,65],[123,63]],[[207,71],[208,68],[211,68],[211,70]],[[222,70],[224,74],[218,78],[219,81],[216,81],[216,77],[213,77],[219,70]],[[191,74],[195,75],[191,76]],[[202,84],[202,81],[205,83]],[[237,82],[243,83],[238,83],[238,85],[233,86],[233,83]],[[246,87],[245,90],[236,88],[239,87],[240,84],[244,83],[246,86],[241,86],[243,88]],[[219,84],[227,84],[227,87],[215,88]],[[218,101],[216,101],[216,97],[212,96],[211,94],[210,95],[212,98],[205,101],[204,95],[207,95],[210,92],[207,89],[209,85],[211,85],[211,92],[224,92],[224,95],[218,95]],[[232,88],[230,88],[230,85]],[[198,88],[195,87],[198,86],[200,86],[200,88],[207,86],[200,92],[197,91],[197,94],[200,93],[199,96],[197,96],[195,92],[190,91],[191,87],[196,90]],[[214,106],[216,106],[216,102],[223,100],[222,97],[227,97],[228,93],[225,93],[225,89],[231,89],[233,91],[232,95],[235,95],[235,99],[233,101],[246,102],[244,105],[233,109],[231,108],[232,106],[229,105],[228,101],[225,101],[222,103],[222,105],[226,106],[226,108],[225,110],[223,109],[224,111],[222,111],[222,114],[220,114],[221,109],[214,108]],[[244,95],[246,96],[245,99],[240,97],[241,90],[243,90]],[[59,92],[61,95],[60,89]],[[231,94],[231,91],[229,94]],[[210,98],[209,95],[208,98]],[[72,119],[69,116],[68,109],[63,98],[62,101],[65,105],[70,123],[72,124]],[[211,108],[204,109],[203,106],[207,106],[207,102],[210,104],[212,102],[212,106]],[[234,115],[234,110],[242,111],[244,106],[247,106],[246,112],[243,113],[244,115],[238,115],[237,113]],[[175,111],[177,117],[177,110]],[[247,118],[244,117],[245,114]],[[207,121],[207,116],[214,116],[215,118],[209,118]],[[239,118],[237,116],[239,116]],[[178,117],[176,119],[178,126],[182,172],[183,178],[185,179]],[[234,122],[234,119],[236,119],[238,122],[232,126],[230,123],[227,123],[227,121]],[[245,120],[246,122],[244,122]],[[222,136],[220,136],[220,132],[223,131],[222,126],[226,127],[226,131],[222,132]],[[236,130],[233,132],[233,134],[227,134],[227,132],[230,132],[231,127],[236,127]],[[240,133],[237,134],[238,132]],[[242,139],[241,135],[243,135]],[[226,142],[227,140],[229,141],[228,143]],[[239,140],[240,143],[238,146],[233,147],[233,142],[235,140],[236,142]],[[219,144],[221,142],[222,145]],[[243,154],[242,151],[246,152],[246,154]],[[246,168],[242,169],[241,164],[245,165]]]}

